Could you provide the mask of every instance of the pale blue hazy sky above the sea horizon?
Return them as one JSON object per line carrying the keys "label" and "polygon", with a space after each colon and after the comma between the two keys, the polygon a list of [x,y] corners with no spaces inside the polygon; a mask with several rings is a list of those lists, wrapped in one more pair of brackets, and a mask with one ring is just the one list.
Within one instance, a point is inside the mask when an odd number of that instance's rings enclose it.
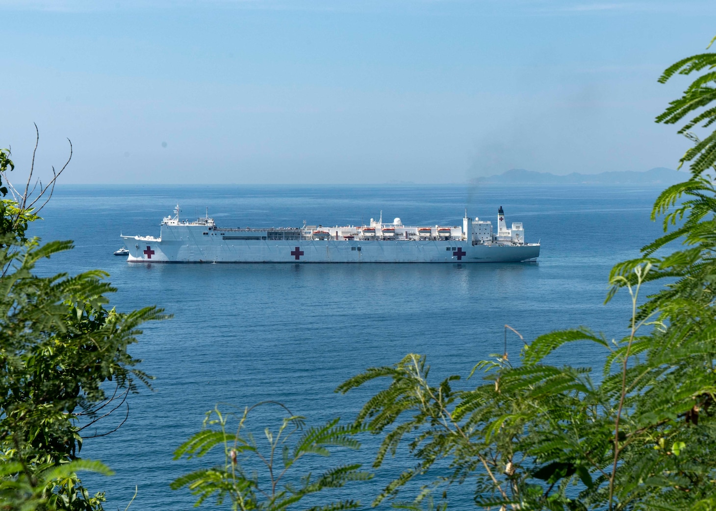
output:
{"label": "pale blue hazy sky above the sea horizon", "polygon": [[62,183],[675,168],[716,2],[0,0],[0,145]]}

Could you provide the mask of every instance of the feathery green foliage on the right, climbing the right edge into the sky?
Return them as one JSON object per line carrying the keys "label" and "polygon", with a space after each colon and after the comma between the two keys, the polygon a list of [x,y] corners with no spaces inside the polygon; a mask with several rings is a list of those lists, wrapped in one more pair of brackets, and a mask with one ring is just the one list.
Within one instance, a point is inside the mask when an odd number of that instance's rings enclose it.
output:
{"label": "feathery green foliage on the right, climbing the right edge into the sky", "polygon": [[[395,499],[420,476],[430,482],[415,496],[415,508],[437,490],[445,504],[450,485],[467,481],[475,504],[488,509],[716,507],[716,132],[703,141],[688,132],[716,121],[715,66],[716,54],[701,54],[662,76],[664,82],[707,69],[658,122],[704,110],[680,130],[695,142],[682,158],[692,161],[690,180],[667,188],[654,204],[652,219],[663,215],[665,235],[609,276],[607,301],[619,290],[632,298],[621,339],[609,342],[586,328],[539,336],[516,366],[507,356],[477,364],[473,373],[484,371],[483,379],[467,390],[453,389],[458,376],[431,384],[425,358],[415,354],[339,386],[347,392],[386,381],[356,426],[382,435],[375,467],[398,449],[417,462],[374,505]],[[675,240],[685,248],[659,255]],[[642,303],[644,283],[662,279]],[[585,342],[595,359],[601,351],[598,381],[591,367],[546,364],[553,352]]]}

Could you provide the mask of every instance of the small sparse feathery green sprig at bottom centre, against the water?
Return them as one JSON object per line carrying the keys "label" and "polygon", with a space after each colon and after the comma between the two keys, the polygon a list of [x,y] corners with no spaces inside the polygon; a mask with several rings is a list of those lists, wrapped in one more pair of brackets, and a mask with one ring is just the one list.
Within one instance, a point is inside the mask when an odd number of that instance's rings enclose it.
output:
{"label": "small sparse feathery green sprig at bottom centre, against the water", "polygon": [[[264,430],[266,442],[260,445],[251,432],[244,430],[253,410],[271,404],[284,409],[288,416],[273,431],[268,427]],[[236,432],[228,429],[233,422],[236,423]],[[301,477],[296,475],[296,465],[304,457],[327,457],[332,447],[360,447],[354,435],[361,429],[342,426],[339,419],[333,419],[322,427],[305,429],[304,426],[304,417],[291,414],[289,409],[275,401],[263,401],[243,409],[241,413],[224,413],[216,407],[207,412],[203,429],[176,450],[174,459],[203,458],[213,454],[218,463],[179,477],[171,487],[173,490],[187,487],[197,497],[195,506],[213,498],[216,505],[230,502],[233,510],[279,511],[296,509],[304,497],[372,477],[368,472],[359,470],[360,464],[334,467],[316,477],[311,472]],[[256,472],[257,466],[263,468],[260,475]],[[307,509],[338,511],[357,507],[359,502],[339,500]]]}

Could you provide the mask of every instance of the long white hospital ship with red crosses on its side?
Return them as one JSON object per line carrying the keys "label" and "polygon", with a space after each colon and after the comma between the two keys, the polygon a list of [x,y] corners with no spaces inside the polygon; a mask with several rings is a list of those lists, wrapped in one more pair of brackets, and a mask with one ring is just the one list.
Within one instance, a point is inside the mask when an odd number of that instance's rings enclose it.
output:
{"label": "long white hospital ship with red crosses on its side", "polygon": [[127,261],[151,263],[495,263],[532,261],[539,243],[526,243],[522,223],[507,228],[498,210],[495,232],[488,220],[463,225],[408,226],[400,218],[368,225],[300,228],[219,228],[203,218],[163,218],[160,236],[122,235]]}

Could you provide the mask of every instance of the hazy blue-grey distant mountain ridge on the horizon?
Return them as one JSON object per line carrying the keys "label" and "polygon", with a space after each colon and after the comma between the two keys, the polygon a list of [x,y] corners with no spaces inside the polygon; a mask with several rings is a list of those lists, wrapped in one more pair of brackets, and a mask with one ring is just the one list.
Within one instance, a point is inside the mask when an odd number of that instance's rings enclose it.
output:
{"label": "hazy blue-grey distant mountain ridge on the horizon", "polygon": [[500,175],[475,177],[470,180],[474,185],[659,185],[669,186],[681,183],[690,177],[687,171],[677,171],[656,167],[646,172],[601,172],[599,174],[554,175],[549,172],[512,169]]}

